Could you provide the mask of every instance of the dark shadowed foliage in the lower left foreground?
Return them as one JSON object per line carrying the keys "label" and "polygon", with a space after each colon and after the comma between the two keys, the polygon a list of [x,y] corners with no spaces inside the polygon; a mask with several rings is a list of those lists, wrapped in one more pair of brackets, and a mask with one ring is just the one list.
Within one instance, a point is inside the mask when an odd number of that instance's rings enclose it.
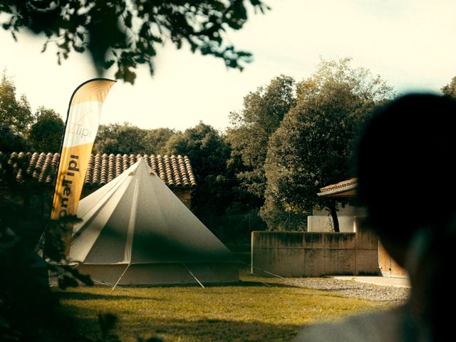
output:
{"label": "dark shadowed foliage in the lower left foreground", "polygon": [[[26,209],[24,199],[39,190],[16,180],[17,170],[26,170],[28,162],[26,156],[10,157],[0,151],[0,341],[90,341],[58,307],[48,271],[58,275],[61,289],[75,286],[77,280],[93,282],[72,266],[56,262],[60,258],[51,265],[33,252],[48,220],[39,211]],[[23,179],[27,182],[31,175],[24,172]]]}

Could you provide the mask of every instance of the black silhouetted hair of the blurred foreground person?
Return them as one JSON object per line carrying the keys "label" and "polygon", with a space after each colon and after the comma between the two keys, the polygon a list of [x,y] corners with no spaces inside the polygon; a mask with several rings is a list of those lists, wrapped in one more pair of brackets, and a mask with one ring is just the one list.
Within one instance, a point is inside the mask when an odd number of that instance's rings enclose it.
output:
{"label": "black silhouetted hair of the blurred foreground person", "polygon": [[456,212],[456,101],[410,94],[373,114],[358,142],[358,199],[383,237],[406,246]]}

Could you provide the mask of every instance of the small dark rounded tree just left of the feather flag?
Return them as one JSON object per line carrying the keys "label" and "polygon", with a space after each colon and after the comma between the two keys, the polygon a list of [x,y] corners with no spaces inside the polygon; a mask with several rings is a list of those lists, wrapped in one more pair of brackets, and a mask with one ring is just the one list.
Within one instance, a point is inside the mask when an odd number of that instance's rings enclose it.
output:
{"label": "small dark rounded tree just left of the feather flag", "polygon": [[63,137],[63,120],[53,109],[39,107],[36,122],[28,131],[28,141],[38,152],[59,152]]}

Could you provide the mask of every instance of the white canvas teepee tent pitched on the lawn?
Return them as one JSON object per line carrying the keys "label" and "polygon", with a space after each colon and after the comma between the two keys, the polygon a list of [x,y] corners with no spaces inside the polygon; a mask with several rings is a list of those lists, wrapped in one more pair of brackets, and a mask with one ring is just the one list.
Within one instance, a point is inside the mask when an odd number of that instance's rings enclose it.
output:
{"label": "white canvas teepee tent pitched on the lawn", "polygon": [[81,199],[69,259],[105,284],[225,283],[236,258],[140,158]]}

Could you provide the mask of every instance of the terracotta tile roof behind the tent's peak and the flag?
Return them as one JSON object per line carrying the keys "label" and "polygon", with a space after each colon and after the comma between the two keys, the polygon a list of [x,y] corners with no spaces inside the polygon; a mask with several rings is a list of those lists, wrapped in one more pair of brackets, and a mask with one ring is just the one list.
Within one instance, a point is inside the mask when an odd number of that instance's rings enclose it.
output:
{"label": "terracotta tile roof behind the tent's peak and the flag", "polygon": [[[0,152],[0,156],[4,155]],[[27,178],[44,185],[53,184],[56,175],[58,153],[12,152],[4,155],[7,162],[13,165],[18,182],[26,182]],[[182,155],[91,155],[86,172],[84,185],[101,186],[120,175],[133,165],[139,157],[143,157],[168,187],[196,187],[195,175],[187,156]],[[21,161],[25,163],[22,166]],[[4,170],[0,165],[0,183]],[[27,177],[29,176],[29,177]]]}

